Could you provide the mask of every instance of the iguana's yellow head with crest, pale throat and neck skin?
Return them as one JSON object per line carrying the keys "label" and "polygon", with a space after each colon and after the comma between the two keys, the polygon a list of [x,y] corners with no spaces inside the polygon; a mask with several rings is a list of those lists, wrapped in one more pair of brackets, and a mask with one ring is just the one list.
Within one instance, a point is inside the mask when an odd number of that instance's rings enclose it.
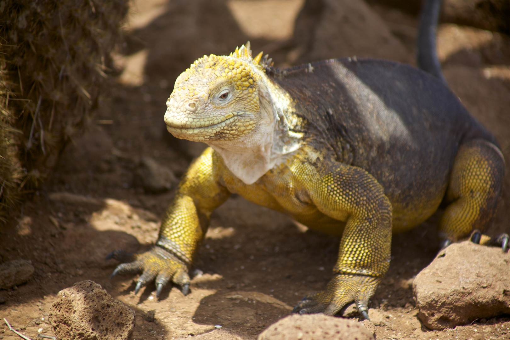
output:
{"label": "iguana's yellow head with crest, pale throat and neck skin", "polygon": [[301,136],[290,95],[266,75],[262,53],[251,57],[249,42],[230,56],[203,56],[175,81],[165,113],[175,137],[204,142],[220,153],[228,169],[252,184]]}

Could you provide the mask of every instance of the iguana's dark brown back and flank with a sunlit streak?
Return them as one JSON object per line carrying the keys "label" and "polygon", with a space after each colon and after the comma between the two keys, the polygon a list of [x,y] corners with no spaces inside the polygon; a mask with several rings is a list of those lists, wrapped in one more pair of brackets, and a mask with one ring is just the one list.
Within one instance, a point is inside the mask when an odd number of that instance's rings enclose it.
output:
{"label": "iguana's dark brown back and flank with a sunlit streak", "polygon": [[390,199],[444,190],[458,145],[494,141],[442,82],[410,65],[339,59],[268,74],[307,121],[307,142],[367,170]]}

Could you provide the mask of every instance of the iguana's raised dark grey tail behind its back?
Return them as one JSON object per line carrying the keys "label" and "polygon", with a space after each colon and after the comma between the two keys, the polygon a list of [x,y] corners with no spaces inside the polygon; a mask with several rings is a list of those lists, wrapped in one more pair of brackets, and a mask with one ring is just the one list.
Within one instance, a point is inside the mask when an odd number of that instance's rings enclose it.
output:
{"label": "iguana's raised dark grey tail behind its back", "polygon": [[436,50],[436,29],[442,2],[442,0],[423,2],[418,28],[417,63],[419,68],[446,84]]}

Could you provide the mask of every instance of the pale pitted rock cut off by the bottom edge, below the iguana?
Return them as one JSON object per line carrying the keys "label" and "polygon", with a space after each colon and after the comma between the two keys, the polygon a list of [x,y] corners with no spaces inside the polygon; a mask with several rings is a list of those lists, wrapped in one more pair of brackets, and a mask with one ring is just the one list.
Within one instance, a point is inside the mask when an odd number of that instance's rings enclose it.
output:
{"label": "pale pitted rock cut off by the bottom edge, below the iguana", "polygon": [[372,332],[361,323],[323,314],[292,314],[278,320],[258,340],[373,340]]}

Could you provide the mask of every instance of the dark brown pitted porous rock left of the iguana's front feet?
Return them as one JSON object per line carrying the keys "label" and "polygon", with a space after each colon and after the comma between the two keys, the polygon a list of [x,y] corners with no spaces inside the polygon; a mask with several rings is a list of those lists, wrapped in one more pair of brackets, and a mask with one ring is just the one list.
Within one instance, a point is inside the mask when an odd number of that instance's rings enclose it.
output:
{"label": "dark brown pitted porous rock left of the iguana's front feet", "polygon": [[135,328],[135,312],[91,280],[60,291],[48,316],[58,339],[130,340]]}

